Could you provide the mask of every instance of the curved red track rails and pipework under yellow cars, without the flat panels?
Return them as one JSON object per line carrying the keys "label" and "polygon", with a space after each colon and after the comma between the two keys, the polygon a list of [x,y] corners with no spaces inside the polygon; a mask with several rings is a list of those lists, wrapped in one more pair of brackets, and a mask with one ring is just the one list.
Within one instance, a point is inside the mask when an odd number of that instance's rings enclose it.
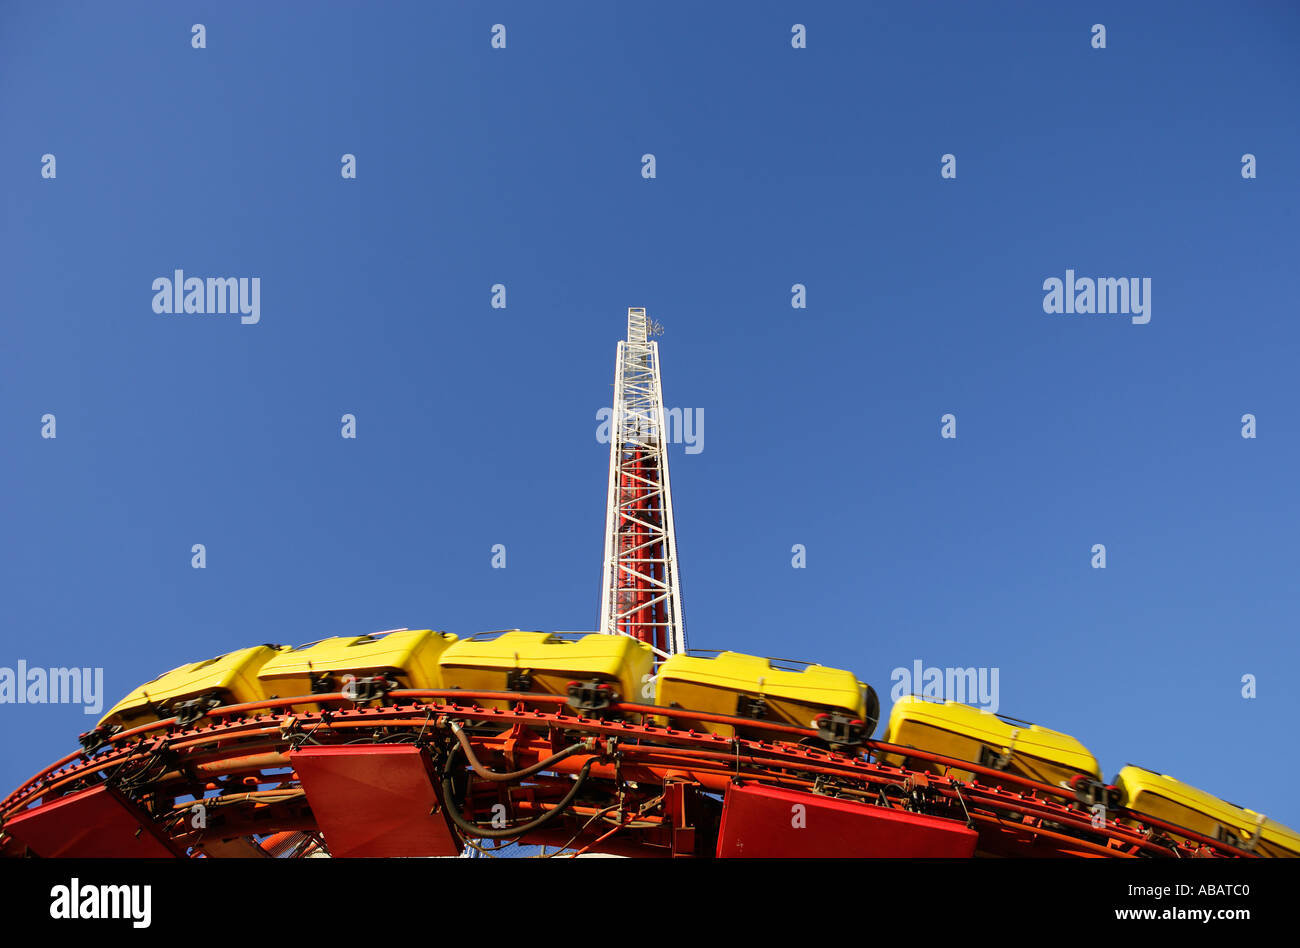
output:
{"label": "curved red track rails and pipework under yellow cars, without the flat panels", "polygon": [[[484,701],[511,706],[474,704]],[[205,718],[212,723],[203,727],[166,718],[130,728],[38,772],[0,802],[0,856],[27,854],[5,832],[10,821],[95,787],[136,805],[178,854],[324,854],[329,841],[291,754],[385,744],[428,754],[442,782],[441,808],[481,850],[484,840],[512,840],[558,848],[551,856],[711,856],[722,811],[715,797],[741,780],[961,821],[979,834],[980,856],[1254,856],[1122,808],[1097,824],[1069,788],[968,761],[883,741],[812,746],[818,733],[809,728],[686,709],[624,702],[584,715],[551,694],[395,689],[364,704],[335,692],[229,705]],[[663,719],[733,724],[771,740],[656,723]],[[928,766],[890,766],[880,761],[885,754]],[[190,815],[200,804],[208,815],[196,828]]]}

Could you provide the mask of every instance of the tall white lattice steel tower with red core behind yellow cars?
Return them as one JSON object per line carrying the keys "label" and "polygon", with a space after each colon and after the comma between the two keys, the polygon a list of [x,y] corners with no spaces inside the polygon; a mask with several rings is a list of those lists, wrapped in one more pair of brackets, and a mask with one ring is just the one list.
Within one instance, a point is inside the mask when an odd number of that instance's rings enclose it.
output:
{"label": "tall white lattice steel tower with red core behind yellow cars", "polygon": [[685,652],[686,628],[655,330],[645,308],[628,308],[614,376],[599,631],[638,639],[667,658]]}

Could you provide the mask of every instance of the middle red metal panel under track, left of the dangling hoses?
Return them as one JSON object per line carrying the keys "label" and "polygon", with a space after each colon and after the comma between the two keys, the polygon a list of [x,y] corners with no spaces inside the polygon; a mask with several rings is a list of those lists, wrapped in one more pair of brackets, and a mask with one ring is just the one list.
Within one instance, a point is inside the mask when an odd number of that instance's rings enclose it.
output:
{"label": "middle red metal panel under track, left of the dangling hoses", "polygon": [[289,759],[333,856],[460,854],[413,744],[312,746]]}

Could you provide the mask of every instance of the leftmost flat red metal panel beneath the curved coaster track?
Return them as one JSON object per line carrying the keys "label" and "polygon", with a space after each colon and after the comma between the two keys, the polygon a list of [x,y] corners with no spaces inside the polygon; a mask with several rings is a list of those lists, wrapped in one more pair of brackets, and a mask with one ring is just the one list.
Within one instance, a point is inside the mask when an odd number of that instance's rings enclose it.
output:
{"label": "leftmost flat red metal panel beneath the curved coaster track", "polygon": [[46,860],[181,854],[148,813],[105,784],[25,810],[5,821],[4,831]]}

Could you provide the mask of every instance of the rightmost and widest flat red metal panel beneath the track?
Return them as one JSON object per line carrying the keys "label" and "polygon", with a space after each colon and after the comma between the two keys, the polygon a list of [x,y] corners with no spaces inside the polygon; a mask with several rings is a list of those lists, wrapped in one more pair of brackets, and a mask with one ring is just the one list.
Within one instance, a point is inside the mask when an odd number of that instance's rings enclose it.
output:
{"label": "rightmost and widest flat red metal panel beneath the track", "polygon": [[718,856],[970,858],[978,839],[979,834],[956,819],[733,783],[723,804]]}

